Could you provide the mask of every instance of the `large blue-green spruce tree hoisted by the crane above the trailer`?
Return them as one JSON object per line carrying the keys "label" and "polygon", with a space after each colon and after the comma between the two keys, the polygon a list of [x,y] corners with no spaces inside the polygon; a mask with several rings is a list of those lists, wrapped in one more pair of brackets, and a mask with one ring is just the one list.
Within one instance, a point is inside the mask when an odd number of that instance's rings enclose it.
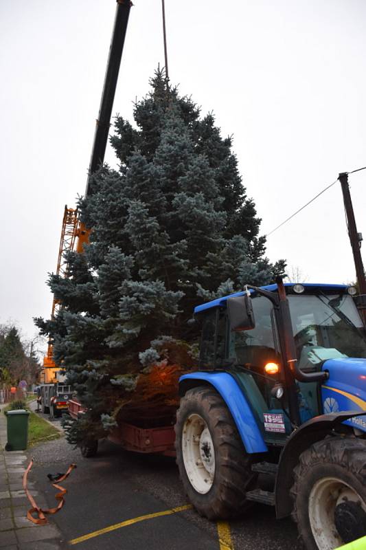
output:
{"label": "large blue-green spruce tree hoisted by the crane above the trailer", "polygon": [[264,257],[231,138],[163,72],[150,85],[135,104],[135,125],[115,119],[119,170],[100,168],[80,200],[90,244],[69,254],[68,278],[49,277],[62,307],[54,320],[36,319],[89,408],[73,441],[111,428],[151,364],[192,365],[194,305],[268,283],[284,269]]}

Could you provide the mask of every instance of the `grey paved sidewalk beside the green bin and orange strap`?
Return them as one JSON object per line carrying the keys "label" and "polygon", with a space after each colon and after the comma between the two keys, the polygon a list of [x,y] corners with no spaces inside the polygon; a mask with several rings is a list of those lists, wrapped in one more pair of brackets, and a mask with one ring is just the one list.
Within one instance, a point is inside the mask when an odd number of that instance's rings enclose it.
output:
{"label": "grey paved sidewalk beside the green bin and orange strap", "polygon": [[[27,519],[30,502],[23,490],[23,474],[27,456],[23,451],[5,451],[7,420],[0,408],[0,549],[1,550],[60,550],[68,548],[61,533],[48,516],[47,525],[35,525]],[[43,494],[36,491],[32,470],[28,488],[38,506],[48,505]]]}

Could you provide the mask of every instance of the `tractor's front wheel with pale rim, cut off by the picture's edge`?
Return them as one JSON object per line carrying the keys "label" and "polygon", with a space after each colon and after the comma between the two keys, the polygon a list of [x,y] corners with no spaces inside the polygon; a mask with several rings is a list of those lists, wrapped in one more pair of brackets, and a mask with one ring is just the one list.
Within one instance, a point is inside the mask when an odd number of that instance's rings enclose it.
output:
{"label": "tractor's front wheel with pale rim, cut off by the picture's edge", "polygon": [[366,535],[366,440],[327,437],[300,455],[293,518],[307,550],[333,550]]}

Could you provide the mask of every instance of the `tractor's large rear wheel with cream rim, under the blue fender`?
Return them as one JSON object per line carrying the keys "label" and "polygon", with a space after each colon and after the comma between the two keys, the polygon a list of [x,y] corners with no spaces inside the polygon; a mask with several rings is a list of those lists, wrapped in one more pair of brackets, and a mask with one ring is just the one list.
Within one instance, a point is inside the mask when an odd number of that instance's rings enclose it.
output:
{"label": "tractor's large rear wheel with cream rim, under the blue fender", "polygon": [[[225,401],[214,389],[187,391],[176,413],[176,463],[191,503],[211,519],[237,516],[251,505],[251,460]],[[252,488],[252,487],[251,487]]]}

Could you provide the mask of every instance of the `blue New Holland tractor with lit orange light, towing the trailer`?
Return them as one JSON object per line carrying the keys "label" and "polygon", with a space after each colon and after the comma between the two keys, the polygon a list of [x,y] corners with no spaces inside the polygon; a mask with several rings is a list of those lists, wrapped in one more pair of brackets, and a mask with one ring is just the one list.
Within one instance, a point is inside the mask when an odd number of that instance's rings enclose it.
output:
{"label": "blue New Holland tractor with lit orange light, towing the trailer", "polygon": [[200,371],[181,377],[175,430],[200,514],[273,505],[307,550],[366,536],[365,297],[356,307],[355,293],[278,278],[196,307]]}

